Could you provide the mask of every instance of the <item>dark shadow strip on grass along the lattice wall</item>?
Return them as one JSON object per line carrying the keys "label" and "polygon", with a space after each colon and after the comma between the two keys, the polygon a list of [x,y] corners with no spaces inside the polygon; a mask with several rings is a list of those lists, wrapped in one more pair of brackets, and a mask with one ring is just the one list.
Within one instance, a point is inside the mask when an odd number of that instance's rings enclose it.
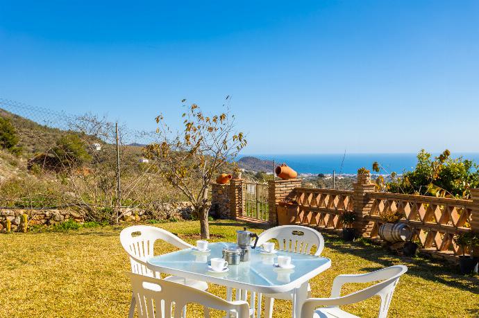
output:
{"label": "dark shadow strip on grass along the lattice wall", "polygon": [[[372,272],[380,270],[380,268],[396,265],[398,263],[406,263],[407,274],[442,283],[460,290],[479,293],[479,279],[473,276],[462,276],[459,274],[457,267],[453,267],[446,262],[439,260],[431,261],[423,257],[403,257],[392,254],[383,249],[383,247],[364,245],[361,242],[344,242],[328,233],[322,233],[326,239],[325,246],[340,253],[351,254],[374,263],[378,263],[376,267],[363,267],[361,270]],[[457,274],[456,274],[457,273]]]}

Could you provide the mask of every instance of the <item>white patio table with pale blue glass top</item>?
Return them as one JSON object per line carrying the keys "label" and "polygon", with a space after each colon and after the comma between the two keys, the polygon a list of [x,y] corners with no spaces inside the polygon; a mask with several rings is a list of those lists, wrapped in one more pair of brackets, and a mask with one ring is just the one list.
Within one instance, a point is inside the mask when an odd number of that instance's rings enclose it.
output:
{"label": "white patio table with pale blue glass top", "polygon": [[[201,253],[194,249],[181,249],[152,257],[147,263],[150,269],[156,272],[206,281],[237,290],[248,290],[251,292],[251,297],[258,294],[257,317],[260,317],[261,313],[262,294],[292,292],[293,318],[301,317],[301,305],[308,298],[308,281],[331,267],[329,258],[289,251],[264,255],[260,253],[259,248],[256,248],[251,249],[249,262],[229,265],[229,270],[226,273],[209,272],[210,258],[221,258],[224,247],[232,245],[235,244],[210,243],[208,253]],[[277,263],[276,257],[280,255],[291,256],[291,263],[295,265],[293,270],[280,270],[274,266]]]}

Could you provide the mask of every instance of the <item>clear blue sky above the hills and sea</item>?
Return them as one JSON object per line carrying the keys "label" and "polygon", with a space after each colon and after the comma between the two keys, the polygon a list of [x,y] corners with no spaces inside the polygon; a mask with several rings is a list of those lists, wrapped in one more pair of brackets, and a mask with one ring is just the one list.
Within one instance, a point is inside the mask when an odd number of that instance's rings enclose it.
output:
{"label": "clear blue sky above the hills and sea", "polygon": [[0,97],[153,129],[180,100],[245,153],[479,152],[479,1],[0,1]]}

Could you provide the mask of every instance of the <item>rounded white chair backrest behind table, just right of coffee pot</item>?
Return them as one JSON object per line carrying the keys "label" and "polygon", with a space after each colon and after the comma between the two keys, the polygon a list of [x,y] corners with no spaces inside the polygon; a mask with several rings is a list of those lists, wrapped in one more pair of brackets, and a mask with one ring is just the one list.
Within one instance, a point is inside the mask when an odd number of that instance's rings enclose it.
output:
{"label": "rounded white chair backrest behind table, just right of coffee pot", "polygon": [[321,233],[310,227],[301,225],[282,225],[267,229],[259,235],[258,246],[272,239],[278,240],[278,249],[310,254],[311,248],[316,246],[314,255],[319,256],[324,248],[324,239]]}

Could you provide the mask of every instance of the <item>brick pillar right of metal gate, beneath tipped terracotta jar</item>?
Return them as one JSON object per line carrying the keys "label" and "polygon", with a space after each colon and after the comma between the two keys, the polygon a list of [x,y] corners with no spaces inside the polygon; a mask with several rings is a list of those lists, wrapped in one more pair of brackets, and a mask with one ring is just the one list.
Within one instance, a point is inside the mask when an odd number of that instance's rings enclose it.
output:
{"label": "brick pillar right of metal gate, beneath tipped terracotta jar", "polygon": [[276,204],[285,197],[292,197],[292,195],[294,195],[294,188],[300,187],[301,182],[302,179],[275,179],[268,181],[269,224],[274,226],[278,224]]}

